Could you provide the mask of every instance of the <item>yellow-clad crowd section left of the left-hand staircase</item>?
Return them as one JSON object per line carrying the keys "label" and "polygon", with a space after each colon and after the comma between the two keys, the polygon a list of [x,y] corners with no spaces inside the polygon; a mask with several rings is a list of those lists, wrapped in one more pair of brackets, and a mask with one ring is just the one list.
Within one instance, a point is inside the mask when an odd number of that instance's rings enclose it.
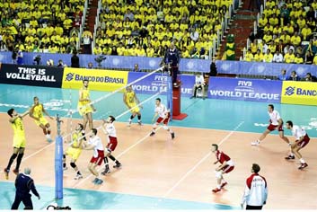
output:
{"label": "yellow-clad crowd section left of the left-hand staircase", "polygon": [[0,51],[72,53],[84,0],[0,0]]}

